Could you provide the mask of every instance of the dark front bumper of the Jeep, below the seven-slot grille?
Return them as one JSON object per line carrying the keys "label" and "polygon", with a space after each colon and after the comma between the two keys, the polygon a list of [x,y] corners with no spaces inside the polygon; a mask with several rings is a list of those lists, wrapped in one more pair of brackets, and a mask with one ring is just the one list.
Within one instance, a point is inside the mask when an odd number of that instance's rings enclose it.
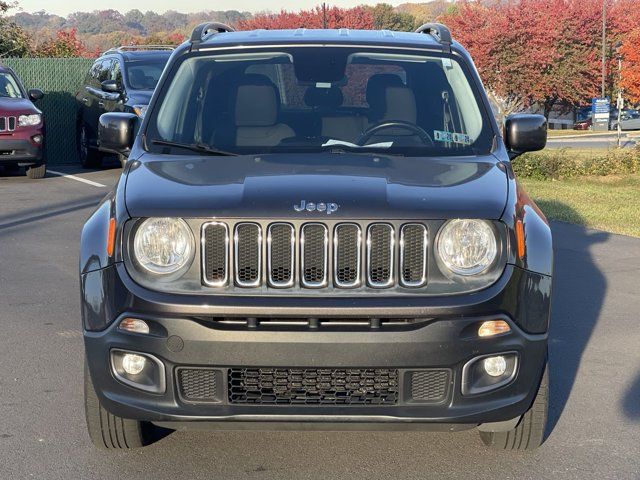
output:
{"label": "dark front bumper of the Jeep, below the seven-slot grille", "polygon": [[[540,293],[543,284],[545,277],[509,266],[496,285],[475,296],[440,299],[440,304],[437,299],[423,299],[423,305],[409,307],[406,298],[383,299],[386,301],[383,310],[400,312],[400,315],[413,312],[416,317],[428,318],[405,330],[251,330],[222,328],[215,322],[206,321],[206,315],[220,313],[221,308],[236,315],[239,311],[257,308],[251,304],[251,299],[236,300],[242,305],[236,305],[234,309],[209,305],[212,299],[201,298],[198,304],[196,299],[158,296],[133,284],[123,266],[118,265],[82,277],[85,327],[95,327],[100,316],[110,322],[99,331],[85,330],[86,354],[94,386],[105,408],[121,417],[165,425],[175,426],[174,422],[184,422],[181,425],[187,426],[208,425],[213,422],[218,426],[232,424],[234,428],[264,428],[284,422],[289,427],[308,424],[332,429],[363,425],[437,429],[443,424],[461,428],[501,422],[528,410],[542,376],[549,314],[548,292]],[[524,298],[527,290],[523,285],[537,285],[535,295]],[[533,293],[529,292],[529,295]],[[289,300],[294,301],[281,298],[279,302],[282,306]],[[323,316],[322,299],[315,301],[320,302],[315,307],[315,316]],[[363,311],[369,308],[366,302],[361,306]],[[306,311],[307,307],[311,306],[299,306],[297,314]],[[270,309],[264,305],[260,308],[262,315],[283,314],[282,308]],[[357,314],[357,303],[354,309],[343,311],[345,317]],[[340,310],[335,305],[326,312],[328,316],[340,318]],[[534,315],[543,318],[536,323],[529,318]],[[120,331],[118,321],[125,316],[148,320],[155,335]],[[497,318],[509,323],[509,334],[482,339],[470,333],[476,332],[483,320]],[[526,322],[523,323],[523,319]],[[545,328],[532,333],[532,325],[538,328],[544,325]],[[109,361],[112,349],[151,354],[159,359],[164,365],[166,391],[162,394],[144,392],[117,380]],[[487,393],[463,395],[463,366],[476,357],[503,352],[518,355],[517,375],[511,383]],[[193,403],[181,399],[176,369],[184,366],[218,370],[218,401]],[[229,369],[251,367],[397,369],[397,401],[392,405],[233,403],[228,394]],[[435,403],[415,401],[411,393],[412,372],[434,368],[451,373],[445,397]]]}

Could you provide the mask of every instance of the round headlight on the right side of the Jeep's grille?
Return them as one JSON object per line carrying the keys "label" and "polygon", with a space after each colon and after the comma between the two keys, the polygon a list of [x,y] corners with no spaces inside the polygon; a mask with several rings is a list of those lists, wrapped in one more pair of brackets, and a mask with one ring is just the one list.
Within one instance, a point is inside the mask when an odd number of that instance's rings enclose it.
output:
{"label": "round headlight on the right side of the Jeep's grille", "polygon": [[498,243],[485,220],[450,220],[440,230],[437,252],[442,263],[458,275],[477,275],[495,260]]}

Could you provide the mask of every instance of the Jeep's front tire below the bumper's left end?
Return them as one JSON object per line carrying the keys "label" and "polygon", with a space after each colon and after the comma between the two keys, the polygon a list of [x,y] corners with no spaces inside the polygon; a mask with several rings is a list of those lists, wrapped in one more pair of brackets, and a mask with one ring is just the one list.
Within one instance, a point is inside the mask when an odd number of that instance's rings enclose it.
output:
{"label": "Jeep's front tire below the bumper's left end", "polygon": [[96,395],[86,363],[84,409],[89,438],[101,450],[140,448],[152,444],[163,436],[151,423],[118,417],[105,410]]}

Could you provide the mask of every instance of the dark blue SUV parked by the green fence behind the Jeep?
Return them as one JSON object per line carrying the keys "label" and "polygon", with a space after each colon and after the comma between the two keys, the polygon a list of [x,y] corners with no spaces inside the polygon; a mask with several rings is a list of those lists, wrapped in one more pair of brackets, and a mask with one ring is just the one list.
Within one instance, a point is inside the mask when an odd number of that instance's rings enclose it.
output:
{"label": "dark blue SUV parked by the green fence behind the Jeep", "polygon": [[102,164],[97,142],[100,115],[129,112],[143,117],[172,51],[171,46],[132,45],[108,50],[94,62],[76,94],[76,142],[83,167]]}

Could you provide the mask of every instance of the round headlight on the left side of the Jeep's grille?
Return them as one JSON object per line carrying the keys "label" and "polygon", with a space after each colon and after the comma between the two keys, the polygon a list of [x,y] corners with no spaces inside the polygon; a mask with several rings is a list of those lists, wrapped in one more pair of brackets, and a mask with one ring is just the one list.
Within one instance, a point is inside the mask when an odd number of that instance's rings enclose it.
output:
{"label": "round headlight on the left side of the Jeep's grille", "polygon": [[193,260],[193,234],[180,218],[149,218],[136,231],[133,252],[146,270],[174,273]]}

